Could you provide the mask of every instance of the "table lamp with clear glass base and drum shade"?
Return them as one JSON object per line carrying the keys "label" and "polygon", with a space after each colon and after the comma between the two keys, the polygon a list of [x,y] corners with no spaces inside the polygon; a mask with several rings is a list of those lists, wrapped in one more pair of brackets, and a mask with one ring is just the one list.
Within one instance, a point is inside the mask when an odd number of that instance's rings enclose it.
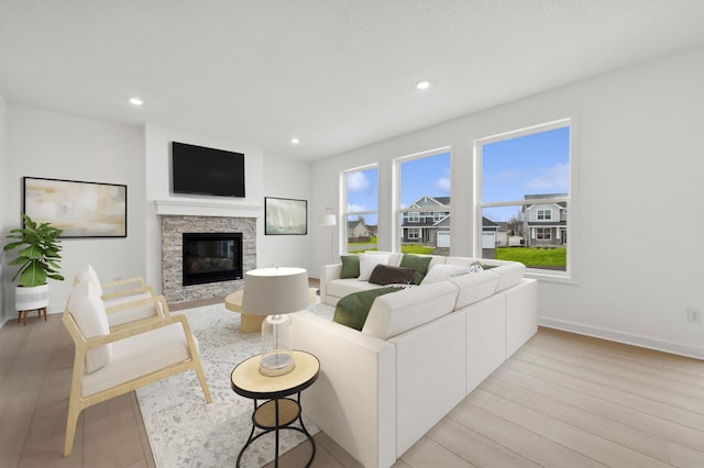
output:
{"label": "table lamp with clear glass base and drum shade", "polygon": [[242,311],[266,315],[262,322],[260,374],[283,376],[296,364],[292,353],[292,320],[286,314],[310,304],[305,268],[258,268],[244,274]]}

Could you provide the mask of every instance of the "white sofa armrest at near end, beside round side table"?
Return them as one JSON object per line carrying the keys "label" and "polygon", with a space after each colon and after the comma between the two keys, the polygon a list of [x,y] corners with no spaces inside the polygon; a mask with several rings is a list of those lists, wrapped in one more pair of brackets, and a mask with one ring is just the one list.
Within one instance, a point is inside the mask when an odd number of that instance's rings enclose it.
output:
{"label": "white sofa armrest at near end, beside round side table", "polygon": [[296,312],[294,348],[320,360],[302,411],[362,466],[396,461],[395,347],[310,312]]}

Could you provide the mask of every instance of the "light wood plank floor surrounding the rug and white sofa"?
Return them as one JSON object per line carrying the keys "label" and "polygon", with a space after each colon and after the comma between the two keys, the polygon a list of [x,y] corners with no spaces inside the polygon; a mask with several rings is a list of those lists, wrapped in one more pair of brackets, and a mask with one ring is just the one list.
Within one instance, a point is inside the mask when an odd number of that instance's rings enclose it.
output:
{"label": "light wood plank floor surrounding the rug and white sofa", "polygon": [[[86,410],[62,458],[72,366],[61,315],[0,328],[0,467],[154,467],[134,393]],[[359,466],[316,441],[315,467]],[[704,361],[541,328],[395,466],[704,467]]]}

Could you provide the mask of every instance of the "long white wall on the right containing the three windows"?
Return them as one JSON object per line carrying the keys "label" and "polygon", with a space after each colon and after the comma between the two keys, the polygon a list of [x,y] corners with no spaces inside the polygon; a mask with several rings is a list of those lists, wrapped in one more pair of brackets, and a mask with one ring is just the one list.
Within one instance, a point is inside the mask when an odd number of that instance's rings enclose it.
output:
{"label": "long white wall on the right containing the three windows", "polygon": [[704,309],[702,82],[704,46],[319,161],[314,198],[337,205],[339,171],[378,161],[389,248],[392,159],[450,145],[452,254],[472,255],[472,142],[571,116],[575,281],[540,282],[540,323],[704,358],[704,324],[685,313]]}

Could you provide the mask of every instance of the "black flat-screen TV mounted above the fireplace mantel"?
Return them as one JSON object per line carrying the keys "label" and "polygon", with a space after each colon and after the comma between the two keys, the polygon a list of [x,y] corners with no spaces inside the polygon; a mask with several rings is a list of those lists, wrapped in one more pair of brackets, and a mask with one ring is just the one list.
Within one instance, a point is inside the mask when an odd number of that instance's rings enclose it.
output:
{"label": "black flat-screen TV mounted above the fireplace mantel", "polygon": [[174,193],[244,197],[244,155],[172,142]]}

